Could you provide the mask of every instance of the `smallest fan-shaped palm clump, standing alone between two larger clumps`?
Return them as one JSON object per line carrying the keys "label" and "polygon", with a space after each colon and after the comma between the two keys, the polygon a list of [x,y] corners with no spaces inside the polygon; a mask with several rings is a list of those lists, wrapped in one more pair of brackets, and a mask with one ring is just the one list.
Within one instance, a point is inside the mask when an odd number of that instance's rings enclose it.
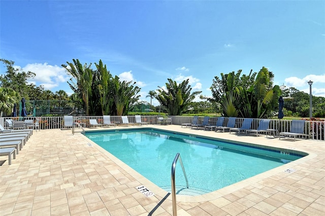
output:
{"label": "smallest fan-shaped palm clump, standing alone between two larger clumps", "polygon": [[192,92],[192,88],[188,85],[188,79],[177,85],[176,81],[168,79],[166,89],[158,86],[156,99],[161,105],[167,107],[168,113],[172,116],[178,116],[183,111],[187,110],[189,103],[195,98],[196,95],[202,91]]}

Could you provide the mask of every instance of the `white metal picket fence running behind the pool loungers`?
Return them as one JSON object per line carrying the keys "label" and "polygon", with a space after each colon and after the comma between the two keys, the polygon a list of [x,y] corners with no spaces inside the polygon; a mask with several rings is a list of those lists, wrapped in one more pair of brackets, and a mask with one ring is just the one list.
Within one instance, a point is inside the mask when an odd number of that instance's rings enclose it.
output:
{"label": "white metal picket fence running behind the pool loungers", "polygon": [[[162,116],[141,116],[141,120],[143,122],[148,122],[149,125],[158,124],[158,117]],[[61,117],[25,117],[24,120],[35,120],[40,119],[40,128],[41,129],[60,129],[64,125],[64,118]],[[193,117],[192,116],[169,116],[172,118],[173,125],[181,125],[182,123],[191,123]],[[1,118],[0,124],[6,127],[6,119],[12,120],[22,120],[21,117],[13,118]],[[103,123],[103,116],[74,116],[74,122],[83,123],[82,125],[85,127],[89,126],[89,119],[96,119],[98,123]],[[260,119],[253,119],[252,129],[257,129],[258,122]],[[128,116],[128,121],[130,123],[135,123],[136,119],[135,116]],[[198,122],[203,121],[203,116],[199,117]],[[236,119],[236,127],[240,127],[242,122],[244,121],[243,118]],[[113,123],[122,123],[121,116],[111,116],[111,122]],[[214,125],[217,122],[217,117],[210,117],[209,123]],[[224,125],[228,123],[228,118],[224,119]],[[291,125],[291,120],[279,120],[279,119],[271,119],[270,129],[276,129],[279,132],[289,132]],[[315,140],[325,140],[325,121],[305,121],[305,134],[309,134],[310,139]]]}

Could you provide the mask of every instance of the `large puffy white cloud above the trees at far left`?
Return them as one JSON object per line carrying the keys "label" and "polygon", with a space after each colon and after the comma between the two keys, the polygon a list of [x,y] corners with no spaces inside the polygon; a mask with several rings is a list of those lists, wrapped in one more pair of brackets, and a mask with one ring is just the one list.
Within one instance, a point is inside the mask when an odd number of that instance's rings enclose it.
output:
{"label": "large puffy white cloud above the trees at far left", "polygon": [[27,64],[22,68],[25,72],[31,71],[35,73],[35,78],[27,80],[28,83],[34,83],[35,85],[42,85],[44,89],[51,90],[60,85],[60,83],[67,82],[69,76],[66,74],[66,69],[57,65],[49,65],[45,63],[32,63]]}

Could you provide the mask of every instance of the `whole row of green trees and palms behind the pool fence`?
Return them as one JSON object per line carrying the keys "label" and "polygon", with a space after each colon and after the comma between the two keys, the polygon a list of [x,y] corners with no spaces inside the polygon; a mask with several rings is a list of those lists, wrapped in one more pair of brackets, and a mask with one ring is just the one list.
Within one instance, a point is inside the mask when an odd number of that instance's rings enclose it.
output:
{"label": "whole row of green trees and palms behind the pool fence", "polygon": [[[215,76],[210,87],[212,97],[201,95],[200,102],[193,99],[201,91],[192,92],[189,80],[177,84],[168,79],[166,87],[158,86],[157,90],[149,91],[148,102],[139,101],[140,88],[136,82],[121,81],[118,76],[113,77],[102,60],[90,64],[82,64],[78,59],[62,64],[70,75],[68,84],[74,91],[71,96],[59,90],[55,93],[44,90],[43,86],[28,84],[27,80],[35,77],[31,71],[25,72],[14,67],[14,62],[0,59],[7,72],[0,77],[0,112],[8,115],[14,103],[21,97],[26,100],[64,100],[72,106],[85,110],[85,115],[127,115],[129,112],[161,112],[169,115],[195,115],[218,113],[226,117],[237,116],[243,118],[270,118],[278,112],[278,98],[285,98],[285,116],[308,117],[309,94],[295,88],[280,89],[273,85],[274,75],[266,67],[258,73],[250,71],[242,75],[237,73]],[[159,106],[152,105],[152,99],[159,101]],[[66,105],[67,105],[66,104]],[[143,109],[143,107],[146,109]],[[325,98],[313,96],[313,116],[325,117]]]}

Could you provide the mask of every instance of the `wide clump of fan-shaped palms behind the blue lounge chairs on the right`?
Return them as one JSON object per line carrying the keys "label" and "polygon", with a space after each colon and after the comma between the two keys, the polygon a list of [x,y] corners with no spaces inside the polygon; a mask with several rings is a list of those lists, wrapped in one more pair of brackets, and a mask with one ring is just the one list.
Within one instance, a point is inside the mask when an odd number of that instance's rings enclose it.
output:
{"label": "wide clump of fan-shaped palms behind the blue lounge chairs on the right", "polygon": [[[277,101],[281,94],[279,86],[273,86],[274,75],[266,67],[258,73],[242,75],[242,70],[217,76],[210,87],[212,98],[221,104],[224,116],[243,118],[266,118],[277,109]],[[257,76],[256,76],[257,75]],[[255,79],[256,77],[256,79]]]}

